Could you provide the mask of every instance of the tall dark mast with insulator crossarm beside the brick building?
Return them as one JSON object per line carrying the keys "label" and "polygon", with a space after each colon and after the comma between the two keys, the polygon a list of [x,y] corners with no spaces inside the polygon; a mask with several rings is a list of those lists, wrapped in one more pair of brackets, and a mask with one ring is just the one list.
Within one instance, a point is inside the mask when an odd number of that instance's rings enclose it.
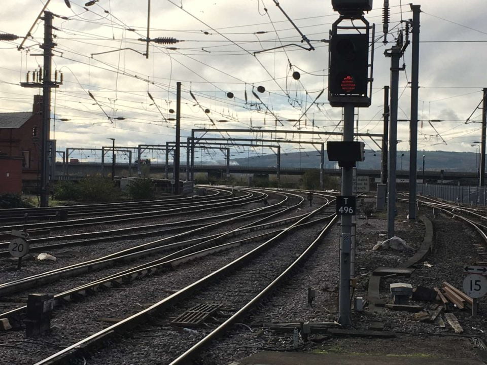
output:
{"label": "tall dark mast with insulator crossarm beside the brick building", "polygon": [[42,134],[41,134],[41,207],[49,205],[49,131],[51,129],[51,59],[52,41],[51,12],[44,12],[44,71],[42,76]]}

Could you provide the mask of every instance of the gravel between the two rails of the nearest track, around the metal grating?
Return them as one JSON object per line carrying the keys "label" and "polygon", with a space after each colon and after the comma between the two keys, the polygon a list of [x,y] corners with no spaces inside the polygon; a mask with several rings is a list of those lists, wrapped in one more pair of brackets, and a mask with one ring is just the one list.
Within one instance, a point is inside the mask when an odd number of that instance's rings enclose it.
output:
{"label": "gravel between the two rails of the nearest track, around the metal grating", "polygon": [[[90,365],[106,364],[107,359],[111,363],[169,363],[217,326],[216,323],[207,323],[206,327],[197,329],[196,333],[178,331],[167,326],[169,318],[198,303],[219,303],[225,308],[240,308],[291,264],[321,228],[322,225],[315,225],[284,237],[279,244],[260,253],[250,264],[221,278],[211,288],[185,301],[183,306],[164,313],[158,321],[162,328],[157,325],[142,325],[135,333],[122,340],[122,343],[113,344],[110,348],[94,354],[89,360]],[[218,322],[225,318],[220,317]]]}

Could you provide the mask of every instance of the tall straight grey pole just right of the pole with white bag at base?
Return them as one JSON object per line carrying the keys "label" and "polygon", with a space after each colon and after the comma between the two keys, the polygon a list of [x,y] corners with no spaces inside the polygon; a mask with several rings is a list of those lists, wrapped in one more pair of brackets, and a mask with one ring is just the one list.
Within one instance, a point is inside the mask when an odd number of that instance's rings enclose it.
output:
{"label": "tall straight grey pole just right of the pole with white bag at base", "polygon": [[412,68],[411,68],[411,120],[409,121],[409,214],[416,219],[416,175],[418,174],[418,93],[420,64],[421,5],[410,5],[412,10]]}

